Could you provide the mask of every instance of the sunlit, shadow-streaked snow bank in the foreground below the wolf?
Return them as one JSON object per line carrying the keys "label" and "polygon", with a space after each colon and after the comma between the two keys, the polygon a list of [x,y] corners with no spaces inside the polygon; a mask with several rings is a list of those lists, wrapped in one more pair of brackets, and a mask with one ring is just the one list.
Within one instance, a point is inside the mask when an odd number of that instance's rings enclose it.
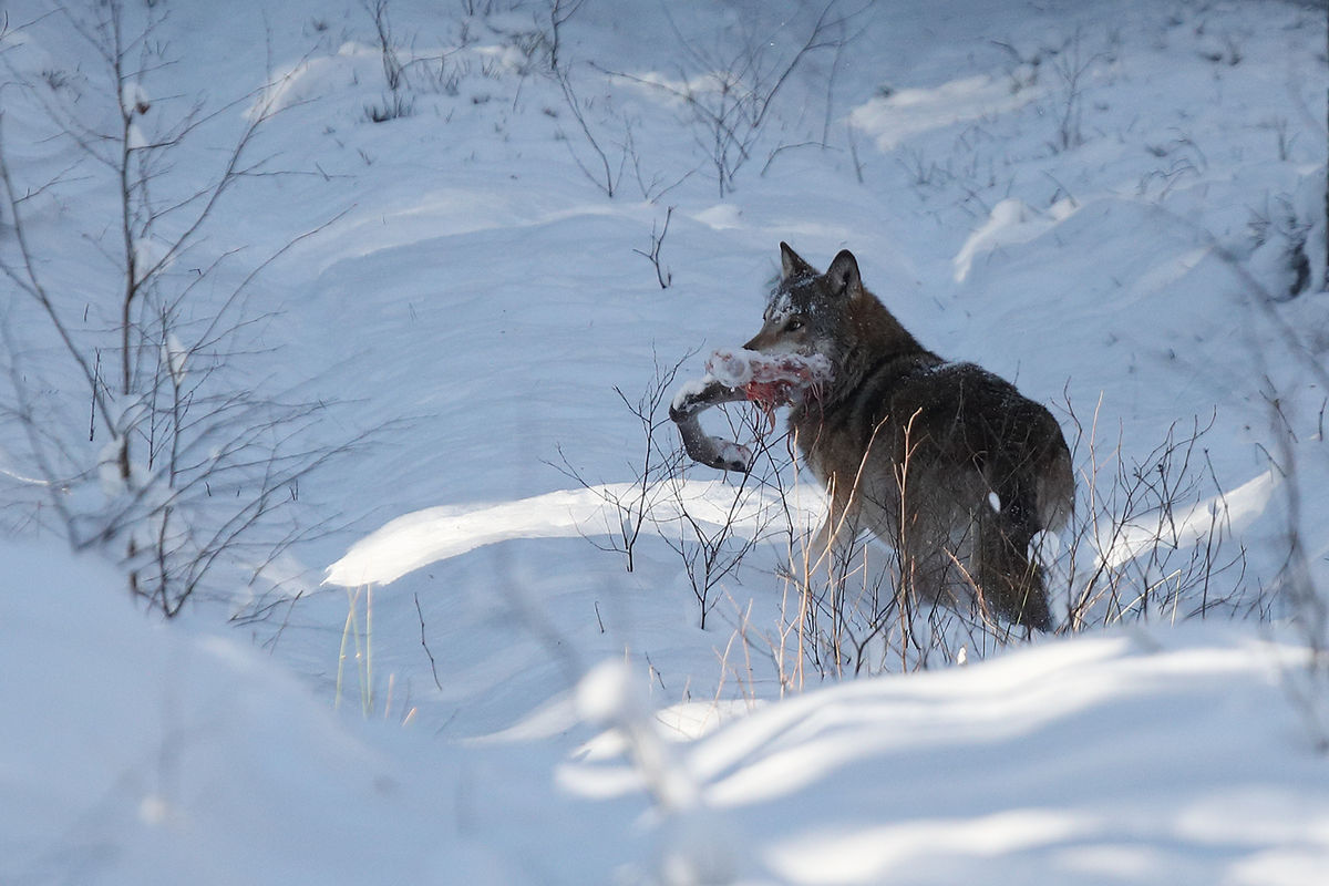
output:
{"label": "sunlit, shadow-streaked snow bank in the foreground below the wolf", "polygon": [[[787,699],[683,765],[752,882],[1310,886],[1329,778],[1278,688],[1301,655],[1215,630],[1051,643]],[[561,780],[613,796],[622,766]]]}

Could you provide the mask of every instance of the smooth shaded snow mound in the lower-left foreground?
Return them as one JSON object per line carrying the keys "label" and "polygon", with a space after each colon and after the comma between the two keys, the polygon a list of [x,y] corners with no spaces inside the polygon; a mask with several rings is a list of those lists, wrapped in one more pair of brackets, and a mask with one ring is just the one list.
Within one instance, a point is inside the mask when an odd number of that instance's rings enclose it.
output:
{"label": "smooth shaded snow mound in the lower-left foreground", "polygon": [[[122,575],[60,549],[7,542],[0,561],[0,881],[433,869],[407,776],[242,639],[154,623]],[[409,833],[413,850],[397,842]]]}

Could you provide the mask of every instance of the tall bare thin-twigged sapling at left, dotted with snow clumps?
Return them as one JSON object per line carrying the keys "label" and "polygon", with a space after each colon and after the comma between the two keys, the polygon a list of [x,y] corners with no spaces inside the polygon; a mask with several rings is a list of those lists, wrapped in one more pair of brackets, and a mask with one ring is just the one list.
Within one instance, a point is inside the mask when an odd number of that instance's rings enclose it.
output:
{"label": "tall bare thin-twigged sapling at left, dotted with snow clumps", "polygon": [[[104,70],[82,101],[24,85],[51,122],[47,143],[80,157],[77,174],[32,181],[12,161],[15,130],[0,114],[0,199],[13,232],[0,274],[17,291],[0,323],[0,410],[21,434],[7,442],[27,472],[7,478],[8,491],[31,499],[39,522],[53,515],[73,547],[118,551],[133,594],[171,616],[219,569],[253,584],[290,545],[322,531],[299,502],[300,481],[344,452],[310,444],[328,406],[264,393],[246,372],[266,319],[250,307],[255,282],[314,231],[249,264],[241,250],[206,247],[219,202],[264,171],[251,153],[274,109],[259,100],[217,167],[190,167],[193,137],[235,102],[207,110],[201,96],[150,97],[145,84],[177,64],[162,54],[163,12],[112,0],[58,15]],[[98,109],[113,112],[109,130]],[[109,203],[86,199],[93,186]],[[69,197],[74,187],[80,198]],[[109,275],[72,288],[51,270],[70,240],[36,221],[36,194],[81,199],[68,207],[81,235],[73,248],[88,250],[88,267],[109,263]],[[60,360],[39,369],[35,336]]]}

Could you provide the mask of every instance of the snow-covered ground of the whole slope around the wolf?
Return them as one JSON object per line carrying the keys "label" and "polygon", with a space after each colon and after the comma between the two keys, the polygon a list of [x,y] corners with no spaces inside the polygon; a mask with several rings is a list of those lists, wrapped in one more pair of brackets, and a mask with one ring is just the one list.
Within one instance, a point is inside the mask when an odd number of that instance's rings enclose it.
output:
{"label": "snow-covered ground of the whole slope around the wolf", "polygon": [[[1329,685],[1288,591],[1302,559],[1329,588],[1329,294],[1288,298],[1325,268],[1324,9],[836,3],[779,81],[824,4],[587,0],[560,82],[554,4],[389,0],[409,113],[373,122],[372,3],[152,5],[132,57],[177,61],[109,90],[88,9],[4,9],[0,146],[57,308],[94,336],[122,279],[114,182],[51,108],[114,132],[142,101],[144,145],[152,114],[219,112],[159,199],[279,110],[268,174],[177,264],[239,250],[189,291],[206,313],[280,251],[231,361],[330,404],[307,445],[368,442],[291,490],[322,530],[263,580],[145,616],[122,543],[36,529],[15,389],[93,473],[104,444],[0,278],[0,882],[1329,882]],[[726,72],[780,88],[718,163],[695,109],[739,101]],[[781,578],[820,505],[787,465],[688,466],[647,489],[631,571],[603,550],[643,470],[631,406],[756,331],[780,240],[853,250],[925,344],[1054,408],[1080,484],[1055,636],[828,664]],[[732,530],[722,557],[755,541],[704,600],[684,515]]]}

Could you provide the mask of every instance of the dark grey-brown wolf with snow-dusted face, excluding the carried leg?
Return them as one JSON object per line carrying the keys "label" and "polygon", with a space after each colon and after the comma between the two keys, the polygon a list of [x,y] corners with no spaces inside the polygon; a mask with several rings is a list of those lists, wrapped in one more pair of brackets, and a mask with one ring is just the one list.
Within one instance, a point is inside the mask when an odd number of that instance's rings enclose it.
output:
{"label": "dark grey-brown wolf with snow-dusted face, excluding the carried leg", "polygon": [[835,376],[789,412],[805,464],[827,485],[823,543],[870,529],[900,557],[904,587],[971,599],[1051,627],[1029,545],[1070,517],[1075,481],[1046,408],[971,363],[924,348],[840,252],[825,274],[780,244],[781,279],[747,348],[820,353]]}

